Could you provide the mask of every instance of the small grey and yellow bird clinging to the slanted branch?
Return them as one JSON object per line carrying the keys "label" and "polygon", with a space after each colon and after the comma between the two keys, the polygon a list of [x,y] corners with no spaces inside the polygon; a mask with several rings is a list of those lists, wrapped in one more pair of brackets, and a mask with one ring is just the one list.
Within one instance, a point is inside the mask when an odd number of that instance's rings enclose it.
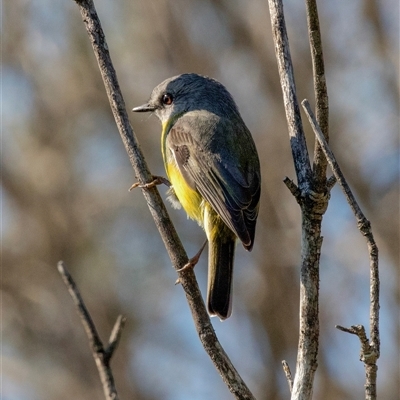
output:
{"label": "small grey and yellow bird clinging to the slanted branch", "polygon": [[224,320],[232,311],[236,238],[252,249],[259,209],[260,162],[250,131],[226,88],[197,74],[165,80],[133,111],[161,121],[170,200],[207,235],[208,312]]}

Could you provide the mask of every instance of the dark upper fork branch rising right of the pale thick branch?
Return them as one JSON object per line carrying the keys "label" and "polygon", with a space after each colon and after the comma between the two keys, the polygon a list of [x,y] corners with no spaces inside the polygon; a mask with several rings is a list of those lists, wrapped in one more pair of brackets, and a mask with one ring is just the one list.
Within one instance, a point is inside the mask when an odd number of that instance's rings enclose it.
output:
{"label": "dark upper fork branch rising right of the pale thick branch", "polygon": [[[326,86],[322,39],[319,27],[318,9],[316,0],[306,0],[308,36],[310,42],[311,59],[313,66],[315,115],[325,139],[329,142],[329,102]],[[317,193],[326,192],[327,161],[318,140],[314,147],[314,190]]]}

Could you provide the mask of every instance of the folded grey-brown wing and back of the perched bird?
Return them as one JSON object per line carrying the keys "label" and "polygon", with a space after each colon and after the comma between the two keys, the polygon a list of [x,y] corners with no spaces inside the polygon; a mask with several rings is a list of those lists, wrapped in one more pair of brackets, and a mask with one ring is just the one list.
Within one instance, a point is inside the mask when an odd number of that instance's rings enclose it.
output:
{"label": "folded grey-brown wing and back of the perched bird", "polygon": [[[167,147],[188,185],[251,250],[260,198],[258,156],[247,129],[237,132],[237,126],[226,123],[207,127],[184,118],[178,120],[168,133]],[[231,135],[205,134],[205,129],[229,129]]]}

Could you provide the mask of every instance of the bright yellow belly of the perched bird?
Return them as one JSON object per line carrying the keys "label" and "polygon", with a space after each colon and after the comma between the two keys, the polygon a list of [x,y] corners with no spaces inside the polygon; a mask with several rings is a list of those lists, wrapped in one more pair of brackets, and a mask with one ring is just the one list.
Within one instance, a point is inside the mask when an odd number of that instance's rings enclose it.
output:
{"label": "bright yellow belly of the perched bird", "polygon": [[168,178],[175,191],[176,197],[182,204],[189,218],[194,219],[203,226],[204,201],[197,190],[193,190],[181,175],[173,160],[166,164]]}

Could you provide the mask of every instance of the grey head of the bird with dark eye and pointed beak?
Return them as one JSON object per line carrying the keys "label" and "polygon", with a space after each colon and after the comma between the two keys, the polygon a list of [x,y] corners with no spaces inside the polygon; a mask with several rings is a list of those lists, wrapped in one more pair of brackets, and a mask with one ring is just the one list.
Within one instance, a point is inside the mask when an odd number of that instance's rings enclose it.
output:
{"label": "grey head of the bird with dark eye and pointed beak", "polygon": [[207,110],[228,118],[239,114],[232,96],[221,83],[197,74],[182,74],[165,80],[153,89],[146,104],[133,109],[155,112],[162,123],[194,110]]}

